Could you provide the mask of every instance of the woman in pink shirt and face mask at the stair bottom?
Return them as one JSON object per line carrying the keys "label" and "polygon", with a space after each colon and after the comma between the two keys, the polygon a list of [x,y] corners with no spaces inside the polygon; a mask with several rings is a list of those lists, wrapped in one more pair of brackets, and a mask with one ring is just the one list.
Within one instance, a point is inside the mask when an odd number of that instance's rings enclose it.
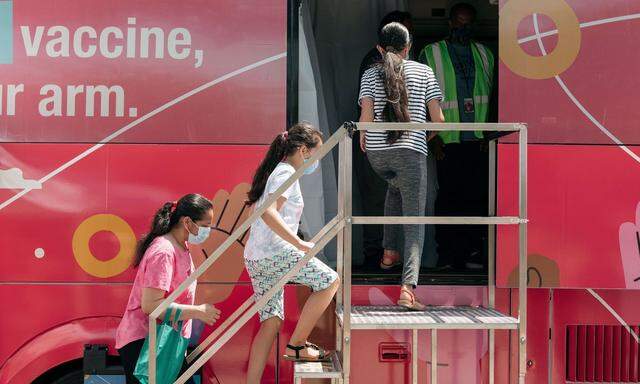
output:
{"label": "woman in pink shirt and face mask at the stair bottom", "polygon": [[[140,239],[133,263],[138,273],[116,331],[116,349],[128,384],[138,383],[133,371],[149,332],[149,314],[193,273],[187,243],[204,242],[209,237],[212,220],[211,202],[189,194],[177,203],[165,203],[154,216],[149,234]],[[191,336],[191,319],[211,325],[220,317],[220,311],[212,305],[194,305],[195,293],[194,282],[172,304],[182,310],[180,318],[187,320],[182,327],[182,335],[187,338]]]}

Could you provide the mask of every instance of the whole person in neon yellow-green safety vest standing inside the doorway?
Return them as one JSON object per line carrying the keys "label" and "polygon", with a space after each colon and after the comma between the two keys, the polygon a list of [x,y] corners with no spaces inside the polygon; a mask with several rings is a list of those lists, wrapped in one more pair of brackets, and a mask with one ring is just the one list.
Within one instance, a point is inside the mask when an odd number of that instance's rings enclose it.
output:
{"label": "whole person in neon yellow-green safety vest standing inside the doorway", "polygon": [[[450,11],[450,36],[426,46],[418,61],[430,66],[444,93],[445,122],[487,122],[493,88],[494,56],[472,40],[476,9],[458,3]],[[436,215],[485,216],[488,201],[488,156],[482,132],[440,132],[431,140],[438,158]],[[436,228],[438,265],[479,269],[486,261],[486,228],[439,226]]]}

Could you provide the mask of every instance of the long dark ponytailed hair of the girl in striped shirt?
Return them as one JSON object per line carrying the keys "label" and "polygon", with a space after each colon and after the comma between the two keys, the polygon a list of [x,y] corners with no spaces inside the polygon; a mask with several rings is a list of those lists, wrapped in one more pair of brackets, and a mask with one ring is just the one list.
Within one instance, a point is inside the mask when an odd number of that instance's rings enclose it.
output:
{"label": "long dark ponytailed hair of the girl in striped shirt", "polygon": [[[386,121],[406,123],[411,121],[409,115],[409,98],[404,82],[402,56],[400,52],[411,44],[409,30],[400,23],[385,25],[378,34],[378,45],[382,53],[382,77],[387,95],[387,103],[383,115]],[[387,131],[387,142],[395,143],[404,131]]]}

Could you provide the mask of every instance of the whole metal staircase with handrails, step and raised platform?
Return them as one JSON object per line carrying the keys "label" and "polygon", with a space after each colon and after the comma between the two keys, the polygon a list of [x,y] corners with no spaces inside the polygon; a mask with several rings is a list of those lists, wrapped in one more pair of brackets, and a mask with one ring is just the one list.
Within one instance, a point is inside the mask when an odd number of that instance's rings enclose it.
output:
{"label": "whole metal staircase with handrails, step and raised platform", "polygon": [[[428,130],[428,131],[502,131],[519,134],[519,214],[517,217],[495,216],[495,142],[491,142],[489,155],[489,216],[488,217],[354,217],[352,215],[352,133],[355,130]],[[191,367],[177,380],[184,383],[197,369],[207,362],[247,321],[254,316],[275,293],[280,290],[311,258],[326,244],[337,237],[337,272],[342,284],[336,294],[336,354],[330,362],[295,363],[294,381],[303,379],[329,379],[333,383],[348,384],[351,371],[351,332],[366,329],[405,329],[412,331],[412,383],[418,383],[418,332],[429,330],[431,333],[431,384],[437,383],[437,337],[440,329],[487,329],[489,331],[489,383],[494,382],[495,330],[518,330],[519,339],[519,383],[525,383],[526,373],[526,242],[527,242],[527,129],[520,123],[345,123],[321,147],[310,161],[298,169],[265,203],[240,225],[227,240],[216,249],[209,258],[183,282],[149,316],[149,382],[155,384],[155,330],[156,319],[175,299],[240,236],[251,224],[262,216],[296,180],[304,169],[316,160],[323,158],[336,145],[339,146],[338,165],[338,214],[325,225],[311,240],[315,243],[291,271],[289,271],[258,302],[253,298],[245,301],[229,318],[220,324],[203,343],[188,357]],[[489,302],[488,307],[429,307],[424,312],[408,312],[395,306],[352,306],[351,304],[351,243],[354,224],[444,224],[444,225],[488,225],[489,226]],[[495,310],[495,226],[518,225],[519,227],[519,308],[518,318],[510,317]]]}

